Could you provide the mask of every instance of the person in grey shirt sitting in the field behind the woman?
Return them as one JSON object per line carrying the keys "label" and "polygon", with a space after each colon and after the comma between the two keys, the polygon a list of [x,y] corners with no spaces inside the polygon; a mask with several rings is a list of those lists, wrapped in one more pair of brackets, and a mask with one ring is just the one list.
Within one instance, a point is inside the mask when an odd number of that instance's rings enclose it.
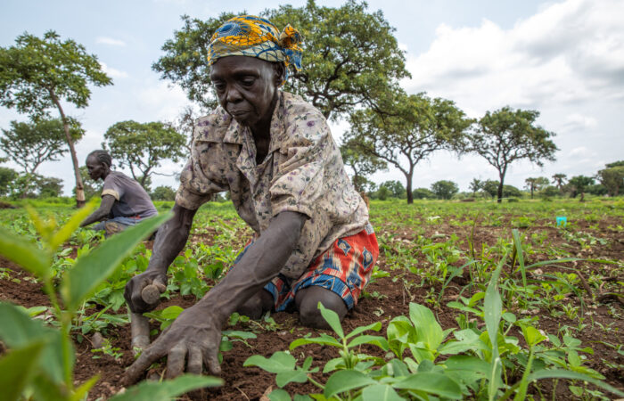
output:
{"label": "person in grey shirt sitting in the field behind the woman", "polygon": [[102,179],[102,203],[80,226],[100,223],[93,230],[105,230],[106,236],[119,233],[158,211],[141,184],[119,171],[111,171],[112,159],[107,151],[92,151],[86,156],[86,169],[94,180]]}

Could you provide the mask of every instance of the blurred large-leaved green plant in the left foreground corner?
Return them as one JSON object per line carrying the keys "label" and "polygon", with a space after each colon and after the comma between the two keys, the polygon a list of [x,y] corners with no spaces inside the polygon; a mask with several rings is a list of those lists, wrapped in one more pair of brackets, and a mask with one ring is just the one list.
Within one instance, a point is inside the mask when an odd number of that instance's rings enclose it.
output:
{"label": "blurred large-leaved green plant in the left foreground corner", "polygon": [[[57,227],[53,219],[45,220],[29,209],[41,248],[28,238],[0,227],[0,255],[22,266],[43,282],[45,294],[53,306],[55,321],[60,326],[58,329],[48,327],[40,320],[32,319],[23,308],[0,302],[0,340],[10,349],[0,359],[3,399],[80,400],[87,397],[89,389],[98,380],[95,375],[78,387],[74,384],[76,356],[70,337],[71,323],[86,299],[119,267],[135,245],[170,216],[152,217],[81,255],[59,277],[59,286],[55,288],[51,267],[53,254],[78,229],[80,222],[94,206],[94,202],[90,202],[61,227]],[[112,348],[108,351],[113,356],[116,352]],[[142,393],[144,396],[160,394],[162,397],[175,397],[192,389],[220,383],[220,380],[212,377],[187,375],[162,385],[143,383],[111,399],[136,399]]]}

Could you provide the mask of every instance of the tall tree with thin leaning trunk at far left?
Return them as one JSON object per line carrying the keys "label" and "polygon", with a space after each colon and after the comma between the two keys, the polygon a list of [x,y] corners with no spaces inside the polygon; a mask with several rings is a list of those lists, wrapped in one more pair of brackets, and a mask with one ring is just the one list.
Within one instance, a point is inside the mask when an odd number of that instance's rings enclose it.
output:
{"label": "tall tree with thin leaning trunk at far left", "polygon": [[71,120],[61,102],[85,108],[91,97],[88,84],[111,83],[93,54],[86,53],[83,45],[71,39],[62,42],[53,30],[45,32],[43,38],[24,33],[17,37],[14,46],[0,47],[0,104],[30,114],[33,119],[49,115],[51,108],[59,111],[74,167],[77,207],[84,205],[85,193]]}

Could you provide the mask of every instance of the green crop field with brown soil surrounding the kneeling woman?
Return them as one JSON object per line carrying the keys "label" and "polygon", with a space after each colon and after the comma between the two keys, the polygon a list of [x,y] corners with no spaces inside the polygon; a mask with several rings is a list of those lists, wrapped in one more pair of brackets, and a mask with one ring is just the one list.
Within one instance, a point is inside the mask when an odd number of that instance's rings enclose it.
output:
{"label": "green crop field with brown soil surrounding the kneeling woman", "polygon": [[[3,259],[0,279],[37,282],[48,299],[27,307],[0,303],[0,340],[9,349],[0,359],[1,381],[12,389],[7,399],[94,397],[99,378],[76,380],[75,349],[98,333],[103,341],[91,349],[93,358],[112,364],[124,355],[111,340],[129,323],[124,286],[146,268],[151,250],[142,240],[168,217],[169,207],[160,205],[160,217],[107,241],[78,229],[88,208],[0,211],[0,254],[29,273],[18,278],[15,265]],[[556,224],[557,216],[566,217],[565,225]],[[235,314],[230,319],[222,357],[244,344],[250,356],[242,372],[275,380],[260,395],[624,397],[618,379],[624,366],[622,201],[379,201],[371,217],[382,255],[362,301],[374,306],[374,315],[362,324],[352,327],[360,320],[349,316],[341,324],[319,306],[332,331],[300,331],[292,323],[281,329],[300,332],[298,338],[269,353],[255,341],[276,335],[270,315],[259,323]],[[152,335],[183,310],[177,299],[200,299],[218,282],[249,234],[230,205],[201,209],[191,241],[169,269],[168,307],[147,314],[157,323]],[[228,384],[227,377],[187,375],[146,381],[115,399],[177,397]]]}

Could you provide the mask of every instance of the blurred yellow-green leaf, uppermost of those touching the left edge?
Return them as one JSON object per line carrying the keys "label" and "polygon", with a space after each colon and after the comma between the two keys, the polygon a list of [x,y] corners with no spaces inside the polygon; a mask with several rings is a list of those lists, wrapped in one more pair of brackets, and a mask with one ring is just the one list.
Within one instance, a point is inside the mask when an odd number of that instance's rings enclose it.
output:
{"label": "blurred yellow-green leaf, uppermost of those touching the left edge", "polygon": [[0,255],[22,266],[37,277],[47,277],[50,258],[43,250],[21,236],[0,227]]}

